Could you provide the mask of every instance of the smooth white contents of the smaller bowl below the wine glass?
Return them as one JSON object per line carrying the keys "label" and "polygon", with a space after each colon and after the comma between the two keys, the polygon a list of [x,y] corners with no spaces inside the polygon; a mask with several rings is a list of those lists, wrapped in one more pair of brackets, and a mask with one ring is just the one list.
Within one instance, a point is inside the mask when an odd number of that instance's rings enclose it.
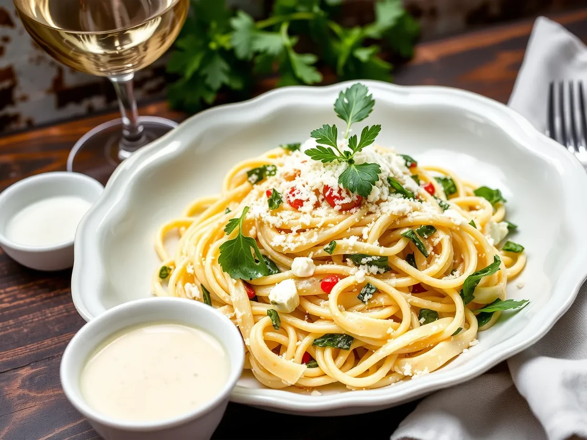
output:
{"label": "smooth white contents of the smaller bowl below the wine glass", "polygon": [[73,241],[90,202],[75,196],[50,197],[21,209],[6,224],[6,238],[19,245],[50,246]]}

